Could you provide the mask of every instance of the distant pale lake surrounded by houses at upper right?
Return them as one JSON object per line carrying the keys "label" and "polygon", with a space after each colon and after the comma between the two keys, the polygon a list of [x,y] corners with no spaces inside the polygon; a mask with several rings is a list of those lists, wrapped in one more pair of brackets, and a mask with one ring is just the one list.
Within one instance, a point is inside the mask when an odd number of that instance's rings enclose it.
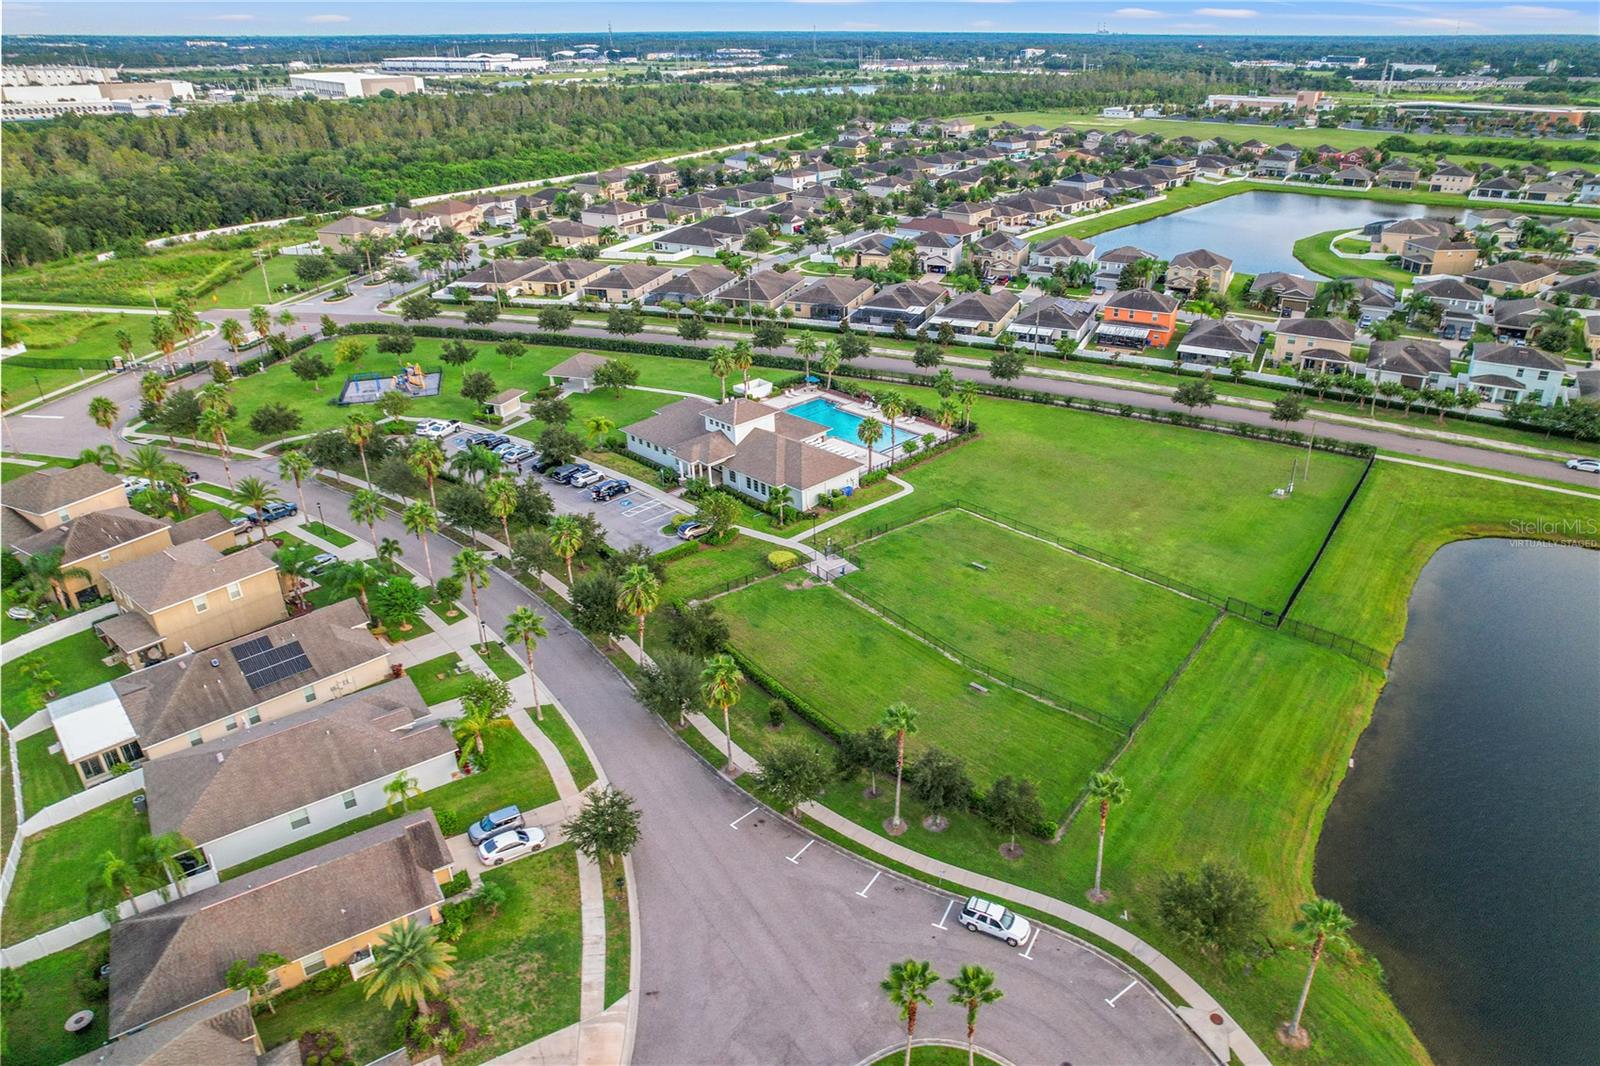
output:
{"label": "distant pale lake surrounded by houses at upper right", "polygon": [[1179,251],[1210,248],[1234,261],[1238,274],[1288,271],[1306,274],[1294,258],[1294,242],[1330,229],[1360,229],[1379,218],[1450,218],[1459,208],[1386,203],[1306,192],[1242,192],[1186,211],[1106,230],[1094,237],[1099,251],[1134,245],[1171,259]]}

